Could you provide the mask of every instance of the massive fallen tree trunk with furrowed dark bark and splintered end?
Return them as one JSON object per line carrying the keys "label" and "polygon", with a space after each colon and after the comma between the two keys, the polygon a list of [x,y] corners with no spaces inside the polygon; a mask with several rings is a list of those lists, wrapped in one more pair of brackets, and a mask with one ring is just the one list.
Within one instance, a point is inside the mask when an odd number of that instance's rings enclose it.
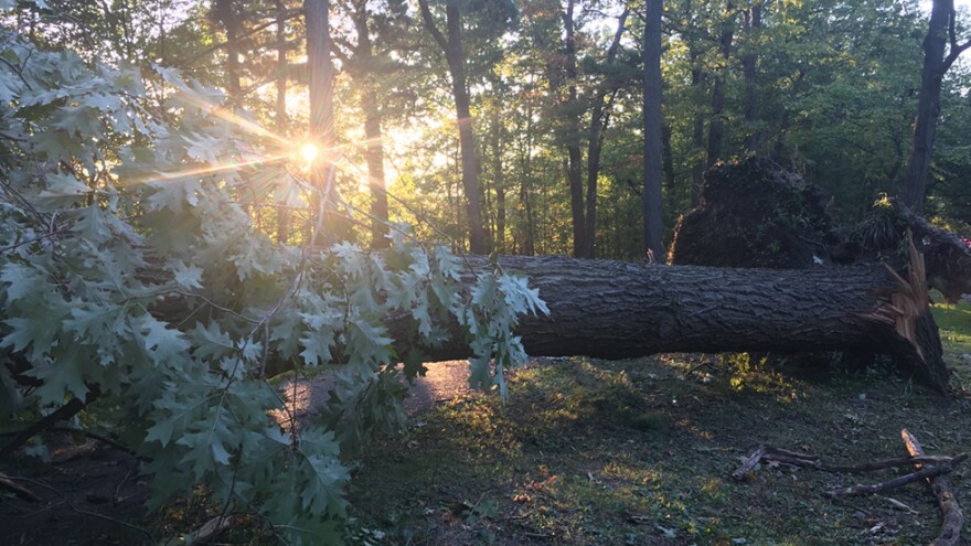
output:
{"label": "massive fallen tree trunk with furrowed dark bark and splintered end", "polygon": [[[489,267],[486,258],[468,260],[473,270]],[[500,264],[526,275],[549,307],[549,315],[525,317],[516,329],[533,356],[867,350],[892,355],[939,393],[948,388],[921,287],[881,265],[725,269],[565,257]],[[424,350],[435,360],[469,356],[461,336]]]}

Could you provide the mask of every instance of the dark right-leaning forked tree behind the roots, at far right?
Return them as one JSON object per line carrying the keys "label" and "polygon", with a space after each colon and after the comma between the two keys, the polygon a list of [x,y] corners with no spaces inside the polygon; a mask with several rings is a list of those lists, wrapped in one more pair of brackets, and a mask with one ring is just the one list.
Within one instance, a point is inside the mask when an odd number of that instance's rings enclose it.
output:
{"label": "dark right-leaning forked tree behind the roots, at far right", "polygon": [[[907,186],[904,202],[914,211],[924,207],[927,179],[933,153],[937,120],[940,116],[941,85],[945,74],[965,50],[971,40],[959,44],[954,0],[933,0],[927,36],[924,39],[924,69],[920,73],[920,93],[917,98],[917,119],[907,165]],[[947,55],[945,54],[947,53]]]}

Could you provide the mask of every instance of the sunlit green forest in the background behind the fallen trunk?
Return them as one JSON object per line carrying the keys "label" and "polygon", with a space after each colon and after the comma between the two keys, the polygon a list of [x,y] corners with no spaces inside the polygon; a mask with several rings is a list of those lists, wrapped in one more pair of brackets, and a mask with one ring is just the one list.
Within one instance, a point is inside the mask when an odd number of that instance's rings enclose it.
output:
{"label": "sunlit green forest in the background behind the fallen trunk", "polygon": [[[253,147],[241,161],[280,163],[308,139],[301,2],[21,4],[6,23],[43,47],[177,68],[215,85],[236,116],[256,124],[241,125]],[[663,8],[665,244],[677,216],[697,204],[703,172],[748,153],[822,186],[845,221],[858,221],[882,194],[904,193],[927,7],[680,0]],[[471,249],[480,253],[641,258],[644,10],[637,1],[332,2],[334,114],[324,122],[343,202],[339,229],[381,246],[386,218],[465,251],[479,215],[483,243]],[[964,21],[959,10],[959,36]],[[925,207],[964,234],[969,87],[971,69],[958,62],[943,79]],[[164,86],[150,90],[161,106]],[[465,197],[471,188],[478,213]],[[239,201],[279,242],[299,242],[310,222],[307,199],[281,207],[254,186]]]}

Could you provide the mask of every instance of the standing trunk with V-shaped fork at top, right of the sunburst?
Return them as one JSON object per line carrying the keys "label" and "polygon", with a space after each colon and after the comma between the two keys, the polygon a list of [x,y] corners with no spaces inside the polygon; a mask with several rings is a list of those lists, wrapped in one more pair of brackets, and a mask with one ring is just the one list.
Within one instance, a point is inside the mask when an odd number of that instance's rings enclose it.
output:
{"label": "standing trunk with V-shaped fork at top, right of the sunburst", "polygon": [[459,146],[462,157],[462,190],[466,194],[466,214],[469,224],[469,249],[472,254],[487,254],[486,228],[479,197],[479,165],[476,159],[476,138],[472,131],[472,110],[466,82],[466,57],[462,53],[461,12],[455,3],[445,7],[445,25],[448,38],[438,30],[428,8],[428,0],[418,0],[425,28],[435,39],[448,63],[452,97],[456,105],[456,122],[459,126]]}

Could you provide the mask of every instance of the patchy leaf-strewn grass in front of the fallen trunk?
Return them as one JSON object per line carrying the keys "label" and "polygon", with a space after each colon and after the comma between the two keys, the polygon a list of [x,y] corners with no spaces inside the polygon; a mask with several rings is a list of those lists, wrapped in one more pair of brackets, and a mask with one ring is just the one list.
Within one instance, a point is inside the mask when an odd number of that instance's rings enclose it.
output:
{"label": "patchy leaf-strewn grass in front of the fallen trunk", "polygon": [[[935,317],[967,385],[971,309],[937,306]],[[505,402],[452,400],[370,448],[350,492],[352,543],[927,544],[940,516],[926,488],[823,494],[890,471],[770,465],[730,478],[762,442],[833,462],[906,454],[901,428],[928,453],[964,451],[971,404],[942,407],[889,365],[853,374],[746,355],[547,360],[516,373]],[[959,467],[951,481],[969,477]]]}

